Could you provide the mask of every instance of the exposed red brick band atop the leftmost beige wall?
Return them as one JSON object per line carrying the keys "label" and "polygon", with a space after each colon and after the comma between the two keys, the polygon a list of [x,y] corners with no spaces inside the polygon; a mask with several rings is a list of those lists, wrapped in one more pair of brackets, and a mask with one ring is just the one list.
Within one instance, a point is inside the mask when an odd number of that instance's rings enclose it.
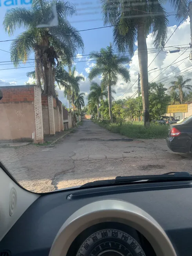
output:
{"label": "exposed red brick band atop the leftmost beige wall", "polygon": [[3,98],[0,103],[34,101],[34,85],[3,86],[1,91]]}

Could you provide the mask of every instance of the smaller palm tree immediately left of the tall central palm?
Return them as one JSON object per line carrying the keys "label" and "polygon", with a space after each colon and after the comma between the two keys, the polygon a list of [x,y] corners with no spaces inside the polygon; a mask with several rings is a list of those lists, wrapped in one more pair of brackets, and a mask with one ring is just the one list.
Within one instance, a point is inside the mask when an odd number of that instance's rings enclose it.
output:
{"label": "smaller palm tree immediately left of the tall central palm", "polygon": [[[97,115],[99,120],[99,104],[100,101],[103,100],[103,96],[107,98],[107,90],[103,89],[102,83],[99,85],[96,82],[92,82],[90,86],[90,93],[87,97],[89,103],[92,102],[93,105],[97,106]],[[101,113],[101,119],[102,113]]]}

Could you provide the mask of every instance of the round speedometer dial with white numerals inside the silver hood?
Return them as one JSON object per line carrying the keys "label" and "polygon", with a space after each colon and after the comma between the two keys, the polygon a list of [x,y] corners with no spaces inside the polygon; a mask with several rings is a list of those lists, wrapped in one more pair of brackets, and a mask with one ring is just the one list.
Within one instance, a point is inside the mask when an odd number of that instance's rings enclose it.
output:
{"label": "round speedometer dial with white numerals inside the silver hood", "polygon": [[145,252],[126,232],[102,229],[82,243],[76,256],[145,256]]}

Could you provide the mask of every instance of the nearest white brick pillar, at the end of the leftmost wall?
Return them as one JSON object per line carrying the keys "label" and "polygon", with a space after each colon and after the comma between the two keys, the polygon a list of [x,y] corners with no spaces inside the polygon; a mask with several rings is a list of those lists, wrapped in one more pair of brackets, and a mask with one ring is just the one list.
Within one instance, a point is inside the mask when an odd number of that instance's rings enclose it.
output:
{"label": "nearest white brick pillar, at the end of the leftmost wall", "polygon": [[34,86],[34,120],[35,120],[35,143],[43,143],[43,116],[41,89]]}

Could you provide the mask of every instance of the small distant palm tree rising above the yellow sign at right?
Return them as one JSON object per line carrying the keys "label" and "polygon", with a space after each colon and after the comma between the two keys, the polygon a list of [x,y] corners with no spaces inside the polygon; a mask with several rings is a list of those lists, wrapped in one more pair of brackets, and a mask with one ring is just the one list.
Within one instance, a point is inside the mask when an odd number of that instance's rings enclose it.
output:
{"label": "small distant palm tree rising above the yellow sign at right", "polygon": [[183,103],[183,96],[184,96],[184,92],[183,89],[188,89],[189,91],[192,91],[192,85],[188,85],[187,83],[191,81],[190,78],[184,80],[184,76],[180,75],[180,76],[176,76],[175,77],[177,80],[176,81],[172,81],[170,82],[170,84],[172,84],[172,86],[170,88],[174,89],[174,90],[178,90],[179,92],[179,100],[180,103]]}

